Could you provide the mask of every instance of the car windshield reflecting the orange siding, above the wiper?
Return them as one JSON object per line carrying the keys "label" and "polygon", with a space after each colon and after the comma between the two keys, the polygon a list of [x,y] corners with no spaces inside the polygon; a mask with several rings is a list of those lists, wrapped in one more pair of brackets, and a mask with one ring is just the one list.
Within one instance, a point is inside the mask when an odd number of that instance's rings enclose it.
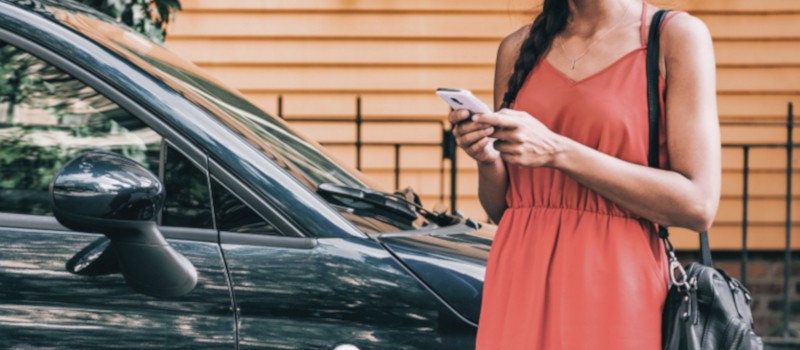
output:
{"label": "car windshield reflecting the orange siding, above the wiper", "polygon": [[[282,119],[268,115],[235,89],[225,87],[161,44],[85,9],[58,6],[50,10],[61,23],[103,44],[206,108],[312,191],[317,191],[322,183],[381,190],[359,171],[334,161],[334,157],[314,140],[298,134]],[[401,223],[382,215],[359,214],[352,208],[335,207],[368,232],[409,230],[426,224],[421,217],[413,223]]]}

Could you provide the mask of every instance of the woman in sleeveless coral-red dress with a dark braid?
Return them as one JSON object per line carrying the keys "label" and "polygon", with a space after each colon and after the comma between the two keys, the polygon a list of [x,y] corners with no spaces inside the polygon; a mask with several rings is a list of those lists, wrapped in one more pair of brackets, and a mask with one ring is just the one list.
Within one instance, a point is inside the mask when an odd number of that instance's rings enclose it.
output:
{"label": "woman in sleeveless coral-red dress with a dark braid", "polygon": [[711,38],[672,12],[660,37],[661,167],[647,166],[645,53],[657,9],[545,0],[500,45],[493,114],[450,114],[497,233],[478,349],[659,349],[668,287],[655,224],[701,231],[720,194]]}

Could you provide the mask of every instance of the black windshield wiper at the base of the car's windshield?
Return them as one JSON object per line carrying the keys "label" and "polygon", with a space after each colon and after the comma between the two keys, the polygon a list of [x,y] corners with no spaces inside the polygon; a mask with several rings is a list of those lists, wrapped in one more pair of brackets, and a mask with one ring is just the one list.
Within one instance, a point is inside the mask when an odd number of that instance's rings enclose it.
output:
{"label": "black windshield wiper at the base of the car's windshield", "polygon": [[[317,193],[326,199],[333,199],[337,203],[353,209],[367,209],[363,204],[368,204],[386,210],[409,221],[417,219],[417,213],[439,226],[449,226],[459,222],[460,218],[447,213],[439,213],[425,209],[418,203],[409,201],[400,194],[392,194],[371,190],[321,183],[317,186]],[[363,203],[363,204],[362,204]]]}

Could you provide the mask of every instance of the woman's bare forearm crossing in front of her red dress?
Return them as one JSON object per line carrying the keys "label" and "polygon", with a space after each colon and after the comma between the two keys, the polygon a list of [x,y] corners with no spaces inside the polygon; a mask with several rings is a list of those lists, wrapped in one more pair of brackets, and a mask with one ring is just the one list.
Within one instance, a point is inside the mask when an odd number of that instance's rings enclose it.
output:
{"label": "woman's bare forearm crossing in front of her red dress", "polygon": [[[553,167],[655,223],[702,231],[719,204],[710,184],[669,170],[630,163],[568,138]],[[716,198],[714,198],[716,197]]]}

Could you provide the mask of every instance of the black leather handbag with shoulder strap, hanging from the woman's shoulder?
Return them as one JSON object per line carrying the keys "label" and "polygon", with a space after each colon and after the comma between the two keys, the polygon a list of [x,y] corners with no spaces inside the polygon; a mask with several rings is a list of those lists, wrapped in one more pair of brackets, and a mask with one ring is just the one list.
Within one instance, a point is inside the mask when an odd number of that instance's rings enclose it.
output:
{"label": "black leather handbag with shoulder strap, hanging from the woman's shoulder", "polygon": [[[653,16],[647,45],[648,165],[659,167],[659,30],[669,10]],[[667,227],[659,226],[669,259],[670,288],[662,314],[664,350],[763,349],[753,332],[750,292],[725,271],[712,267],[708,234],[700,232],[701,263],[685,268],[675,256]]]}

